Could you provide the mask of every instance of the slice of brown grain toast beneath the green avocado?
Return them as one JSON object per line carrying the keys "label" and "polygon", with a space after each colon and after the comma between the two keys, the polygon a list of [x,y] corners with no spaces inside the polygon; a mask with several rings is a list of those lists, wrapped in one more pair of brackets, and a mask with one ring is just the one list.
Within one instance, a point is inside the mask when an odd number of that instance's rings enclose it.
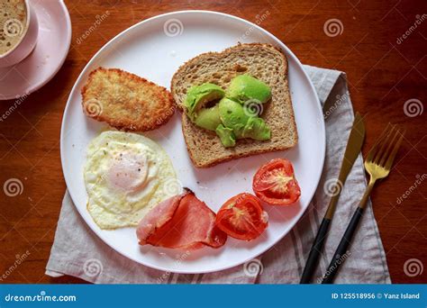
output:
{"label": "slice of brown grain toast beneath the green avocado", "polygon": [[263,104],[261,117],[271,130],[270,140],[237,140],[233,148],[224,148],[214,131],[207,131],[191,122],[182,113],[182,131],[188,153],[197,168],[208,168],[220,162],[254,154],[290,149],[298,140],[294,110],[289,94],[287,59],[272,45],[239,44],[222,52],[207,52],[188,60],[172,77],[171,92],[184,110],[186,90],[206,82],[229,86],[233,77],[249,74],[265,82],[272,92]]}

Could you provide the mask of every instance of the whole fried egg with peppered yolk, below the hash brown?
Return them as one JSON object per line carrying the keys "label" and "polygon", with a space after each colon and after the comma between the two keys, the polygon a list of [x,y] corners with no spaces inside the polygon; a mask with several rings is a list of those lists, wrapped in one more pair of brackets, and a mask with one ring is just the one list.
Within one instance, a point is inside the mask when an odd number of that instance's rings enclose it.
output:
{"label": "whole fried egg with peppered yolk, below the hash brown", "polygon": [[84,168],[87,211],[101,229],[134,227],[181,192],[168,154],[140,134],[104,131],[89,144]]}

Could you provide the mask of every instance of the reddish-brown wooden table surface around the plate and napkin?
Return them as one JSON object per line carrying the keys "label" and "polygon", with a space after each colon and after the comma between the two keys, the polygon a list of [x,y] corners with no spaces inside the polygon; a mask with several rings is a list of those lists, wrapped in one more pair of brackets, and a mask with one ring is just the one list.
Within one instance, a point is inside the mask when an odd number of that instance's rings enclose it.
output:
{"label": "reddish-brown wooden table surface around the plate and napkin", "polygon": [[[387,122],[406,130],[395,168],[377,186],[372,202],[393,283],[427,282],[424,0],[68,0],[66,4],[73,26],[67,60],[48,85],[0,122],[0,185],[11,178],[23,183],[21,195],[11,197],[0,190],[0,278],[8,273],[2,282],[84,282],[44,275],[66,189],[59,132],[68,94],[87,61],[117,33],[151,16],[186,9],[218,11],[259,23],[304,64],[346,72],[354,109],[365,116],[365,155]],[[106,11],[108,18],[78,44],[77,38]],[[328,23],[338,24],[339,32],[324,30]],[[405,32],[409,34],[402,39]],[[12,104],[0,102],[0,114]],[[28,258],[8,270],[27,250]],[[418,273],[411,271],[414,262],[420,265]]]}

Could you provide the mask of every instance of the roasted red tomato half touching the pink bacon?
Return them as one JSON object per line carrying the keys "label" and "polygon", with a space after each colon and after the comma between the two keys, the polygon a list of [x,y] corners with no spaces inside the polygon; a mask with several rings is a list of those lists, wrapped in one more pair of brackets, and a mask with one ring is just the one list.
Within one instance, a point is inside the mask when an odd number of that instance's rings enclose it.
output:
{"label": "roasted red tomato half touching the pink bacon", "polygon": [[254,240],[267,228],[268,214],[255,195],[243,193],[223,204],[215,223],[232,238]]}

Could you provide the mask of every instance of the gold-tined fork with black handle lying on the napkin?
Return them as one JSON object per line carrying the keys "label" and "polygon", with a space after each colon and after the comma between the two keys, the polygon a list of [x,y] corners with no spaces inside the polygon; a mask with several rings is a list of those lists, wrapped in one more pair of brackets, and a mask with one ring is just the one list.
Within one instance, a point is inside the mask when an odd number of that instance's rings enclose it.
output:
{"label": "gold-tined fork with black handle lying on the napkin", "polygon": [[332,284],[341,263],[343,263],[346,258],[350,257],[350,252],[348,251],[350,241],[358,227],[366,204],[368,203],[368,197],[377,180],[387,177],[390,173],[397,150],[400,148],[402,140],[404,139],[404,132],[401,133],[398,131],[395,125],[392,126],[390,130],[390,126],[391,124],[389,123],[386,130],[383,131],[377,142],[368,152],[368,157],[365,160],[365,169],[370,177],[368,187],[360,201],[359,207],[356,209],[353,217],[351,217],[349,226],[342,236],[326,274],[323,276],[323,284]]}

